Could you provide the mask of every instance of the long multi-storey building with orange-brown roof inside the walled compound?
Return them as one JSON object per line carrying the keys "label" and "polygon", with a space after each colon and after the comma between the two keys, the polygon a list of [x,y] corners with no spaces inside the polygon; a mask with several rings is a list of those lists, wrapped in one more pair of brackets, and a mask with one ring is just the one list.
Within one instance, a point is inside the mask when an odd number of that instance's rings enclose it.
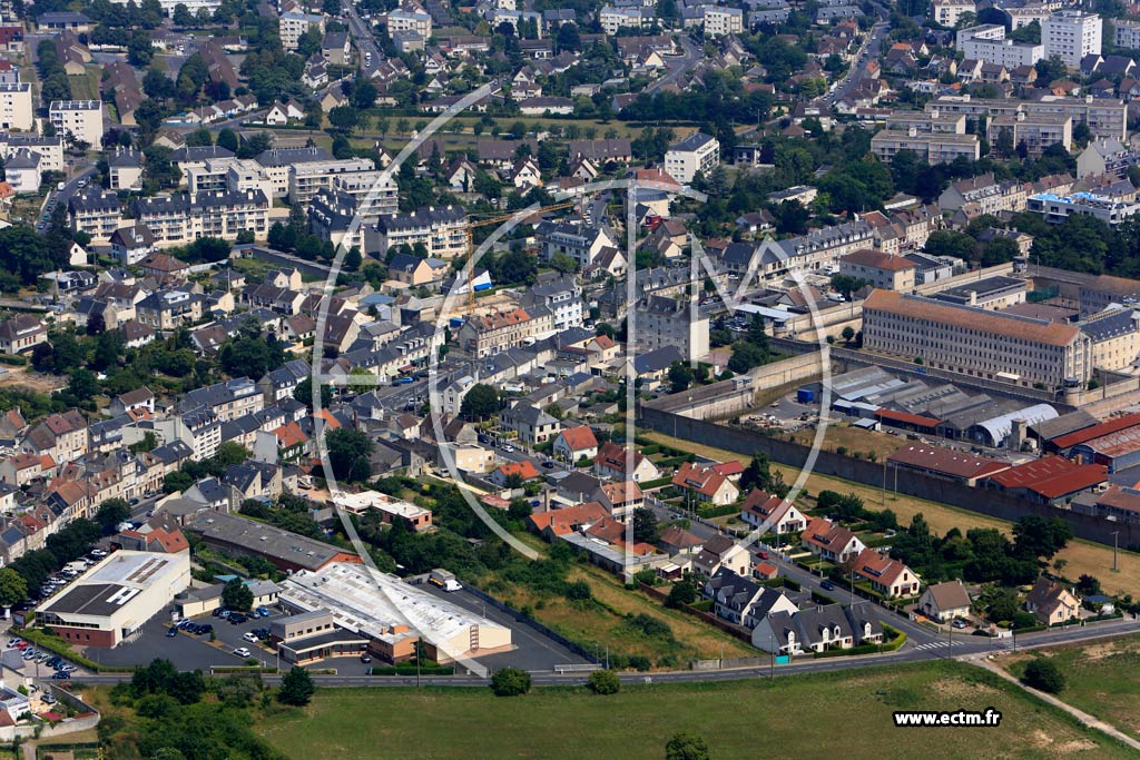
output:
{"label": "long multi-storey building with orange-brown roof inside the walled compound", "polygon": [[1083,385],[1092,370],[1089,337],[1076,326],[890,291],[863,303],[863,348],[1024,386]]}

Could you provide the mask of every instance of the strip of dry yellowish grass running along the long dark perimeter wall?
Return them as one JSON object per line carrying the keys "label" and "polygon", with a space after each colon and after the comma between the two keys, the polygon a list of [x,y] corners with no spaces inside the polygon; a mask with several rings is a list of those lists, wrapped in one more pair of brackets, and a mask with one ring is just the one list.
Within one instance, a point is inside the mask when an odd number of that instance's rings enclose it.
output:
{"label": "strip of dry yellowish grass running along the long dark perimeter wall", "polygon": [[[735,459],[748,465],[750,459],[750,457],[733,453],[732,451],[701,446],[661,433],[646,431],[643,435],[651,441],[666,443],[683,451],[691,451],[722,461]],[[797,468],[787,465],[773,465],[773,468],[783,473],[784,482],[787,483],[795,482],[799,475]],[[937,533],[945,534],[951,528],[958,528],[963,533],[970,528],[996,528],[1004,533],[1009,533],[1012,530],[1012,523],[1004,520],[987,517],[986,515],[958,509],[945,504],[926,501],[925,499],[907,496],[896,497],[893,493],[887,493],[886,500],[883,500],[882,489],[873,485],[853,483],[839,477],[829,477],[814,473],[807,480],[807,490],[809,493],[819,493],[829,489],[839,491],[840,493],[856,495],[863,499],[869,509],[890,509],[898,515],[898,521],[904,525],[910,523],[913,515],[921,512],[926,521],[930,524],[930,529]],[[1065,574],[1067,577],[1078,578],[1085,573],[1093,575],[1100,579],[1106,593],[1121,591],[1132,594],[1133,596],[1140,593],[1140,555],[1138,554],[1122,550],[1118,563],[1119,572],[1115,573],[1112,571],[1113,549],[1099,544],[1081,540],[1072,541],[1056,558],[1065,559],[1068,563],[1065,566]]]}

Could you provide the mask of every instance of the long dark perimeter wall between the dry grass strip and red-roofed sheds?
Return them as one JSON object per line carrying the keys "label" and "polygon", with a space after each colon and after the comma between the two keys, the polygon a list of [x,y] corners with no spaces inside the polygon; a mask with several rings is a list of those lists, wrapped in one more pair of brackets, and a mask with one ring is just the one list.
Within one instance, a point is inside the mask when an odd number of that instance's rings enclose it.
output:
{"label": "long dark perimeter wall between the dry grass strip and red-roofed sheds", "polygon": [[[756,431],[727,427],[700,419],[662,412],[649,407],[638,407],[637,424],[686,441],[726,449],[735,453],[751,456],[767,453],[773,461],[801,467],[807,460],[809,447],[776,438],[768,438]],[[882,485],[883,480],[897,492],[906,496],[948,504],[961,509],[977,512],[991,517],[1017,521],[1027,515],[1061,517],[1073,526],[1073,532],[1083,539],[1113,546],[1113,532],[1119,531],[1119,546],[1140,544],[1140,525],[1110,522],[1089,515],[1080,515],[1044,505],[1033,504],[1007,493],[970,488],[918,473],[887,473],[886,463],[841,457],[833,451],[820,451],[815,472],[844,480]]]}

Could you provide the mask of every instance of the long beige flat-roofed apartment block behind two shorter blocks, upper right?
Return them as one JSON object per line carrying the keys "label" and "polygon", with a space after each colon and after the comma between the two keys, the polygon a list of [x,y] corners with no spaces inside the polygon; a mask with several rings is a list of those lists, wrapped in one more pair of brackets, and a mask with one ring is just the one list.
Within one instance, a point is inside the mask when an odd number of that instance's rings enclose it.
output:
{"label": "long beige flat-roofed apartment block behind two shorter blocks, upper right", "polygon": [[969,95],[944,95],[927,103],[927,112],[959,113],[969,117],[995,119],[1025,112],[1035,114],[1068,114],[1074,124],[1084,123],[1097,138],[1125,139],[1127,106],[1115,98],[1084,98],[1045,96],[1040,100],[991,100]]}

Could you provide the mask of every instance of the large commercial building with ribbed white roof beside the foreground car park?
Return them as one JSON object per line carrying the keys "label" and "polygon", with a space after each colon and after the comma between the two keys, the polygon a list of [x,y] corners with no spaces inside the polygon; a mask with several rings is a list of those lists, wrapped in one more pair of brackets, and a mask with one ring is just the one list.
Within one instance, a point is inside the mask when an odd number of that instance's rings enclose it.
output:
{"label": "large commercial building with ribbed white roof beside the foreground car park", "polygon": [[[279,598],[299,613],[331,614],[336,629],[365,639],[367,649],[386,662],[410,659],[421,640],[437,662],[513,648],[510,628],[361,564],[337,562],[319,572],[295,572],[282,582]],[[344,635],[329,629],[327,618],[319,614],[302,622],[314,629],[309,636]],[[277,636],[287,645],[280,649],[283,657],[307,648],[295,631],[277,629]]]}

